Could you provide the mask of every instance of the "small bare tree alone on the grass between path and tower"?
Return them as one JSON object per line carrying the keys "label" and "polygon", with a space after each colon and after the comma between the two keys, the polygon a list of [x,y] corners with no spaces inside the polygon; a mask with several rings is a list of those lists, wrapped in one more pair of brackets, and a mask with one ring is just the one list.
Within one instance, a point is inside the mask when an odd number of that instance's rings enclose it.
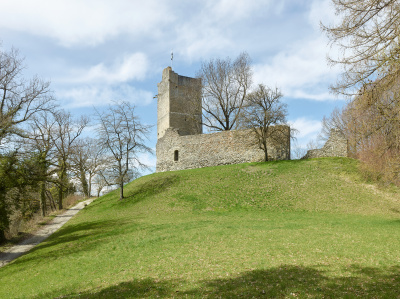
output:
{"label": "small bare tree alone on the grass between path and tower", "polygon": [[106,170],[108,175],[103,178],[111,177],[113,183],[120,187],[120,200],[124,198],[124,184],[136,175],[134,170],[145,167],[137,154],[151,152],[144,144],[150,126],[142,125],[134,110],[130,103],[122,102],[110,106],[107,112],[97,111],[99,140],[110,156]]}

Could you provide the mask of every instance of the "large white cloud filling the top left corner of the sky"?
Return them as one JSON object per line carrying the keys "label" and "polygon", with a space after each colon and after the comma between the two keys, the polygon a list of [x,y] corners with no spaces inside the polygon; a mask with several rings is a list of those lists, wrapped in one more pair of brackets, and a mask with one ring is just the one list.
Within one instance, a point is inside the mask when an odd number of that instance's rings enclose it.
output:
{"label": "large white cloud filling the top left corner of the sky", "polygon": [[157,0],[2,0],[0,28],[50,37],[63,46],[94,46],[122,33],[156,34],[172,16],[168,3]]}

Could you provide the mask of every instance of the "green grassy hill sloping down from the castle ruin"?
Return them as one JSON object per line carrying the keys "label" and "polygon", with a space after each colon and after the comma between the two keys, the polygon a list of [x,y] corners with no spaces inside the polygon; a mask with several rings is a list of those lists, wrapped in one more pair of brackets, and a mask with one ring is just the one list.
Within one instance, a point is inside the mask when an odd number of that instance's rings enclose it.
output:
{"label": "green grassy hill sloping down from the castle ruin", "polygon": [[325,158],[157,173],[0,269],[0,298],[400,294],[400,196]]}

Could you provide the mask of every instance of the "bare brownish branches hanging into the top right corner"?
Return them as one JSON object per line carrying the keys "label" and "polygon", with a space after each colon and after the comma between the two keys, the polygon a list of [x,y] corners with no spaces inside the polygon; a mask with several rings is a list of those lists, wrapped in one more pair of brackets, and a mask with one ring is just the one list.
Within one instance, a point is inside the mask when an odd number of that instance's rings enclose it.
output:
{"label": "bare brownish branches hanging into the top right corner", "polygon": [[400,5],[398,0],[332,0],[340,22],[322,25],[339,57],[331,64],[343,67],[332,90],[347,95],[369,89],[376,78],[399,70]]}

